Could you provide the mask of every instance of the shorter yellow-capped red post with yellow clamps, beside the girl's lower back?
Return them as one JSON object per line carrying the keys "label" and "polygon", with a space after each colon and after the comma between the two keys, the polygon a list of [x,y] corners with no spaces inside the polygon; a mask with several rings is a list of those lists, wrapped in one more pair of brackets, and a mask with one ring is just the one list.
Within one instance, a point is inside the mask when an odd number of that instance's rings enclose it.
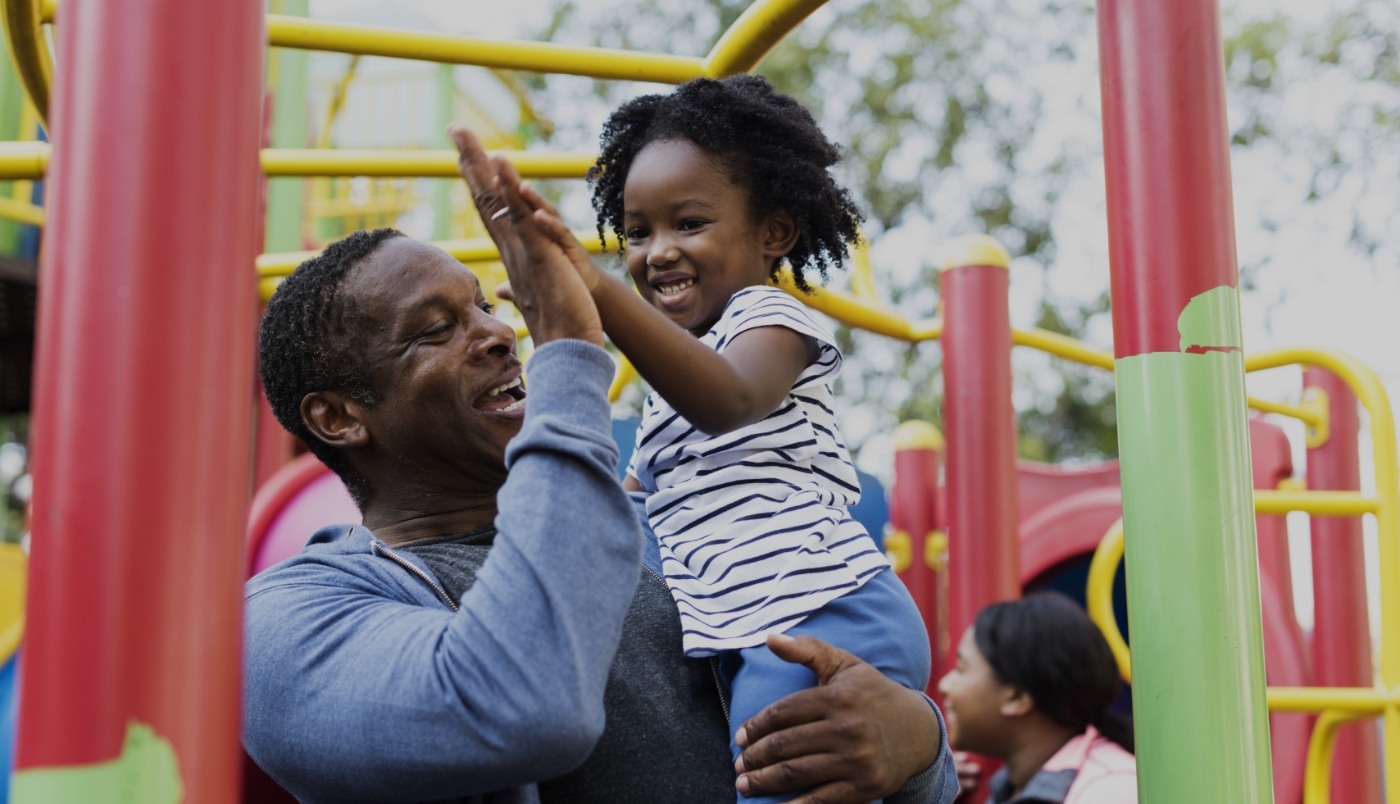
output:
{"label": "shorter yellow-capped red post with yellow clamps, beside the girl's lower back", "polygon": [[[889,492],[889,521],[895,532],[885,548],[924,616],[934,649],[934,667],[952,650],[948,633],[948,536],[938,529],[938,466],[942,434],[927,422],[904,422],[895,430],[895,483]],[[928,679],[930,695],[938,675]]]}

